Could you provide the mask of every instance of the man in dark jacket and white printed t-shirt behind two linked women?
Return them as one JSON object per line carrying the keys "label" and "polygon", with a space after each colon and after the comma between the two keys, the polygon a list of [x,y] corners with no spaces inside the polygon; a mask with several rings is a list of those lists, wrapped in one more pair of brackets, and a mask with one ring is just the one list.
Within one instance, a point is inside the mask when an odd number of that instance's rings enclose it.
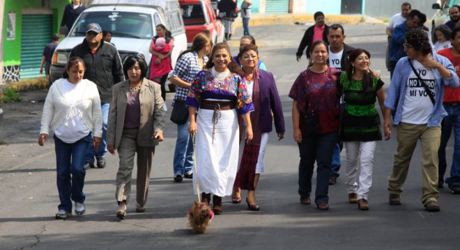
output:
{"label": "man in dark jacket and white printed t-shirt behind two linked women", "polygon": [[[332,24],[329,26],[328,42],[329,42],[329,65],[336,69],[345,71],[349,65],[349,56],[353,47],[348,46],[344,43],[345,31],[344,27],[340,24]],[[344,101],[340,99],[342,103],[342,110],[344,109]],[[329,185],[337,183],[340,169],[340,151],[342,151],[342,145],[337,143],[332,153],[332,165],[330,167]]]}

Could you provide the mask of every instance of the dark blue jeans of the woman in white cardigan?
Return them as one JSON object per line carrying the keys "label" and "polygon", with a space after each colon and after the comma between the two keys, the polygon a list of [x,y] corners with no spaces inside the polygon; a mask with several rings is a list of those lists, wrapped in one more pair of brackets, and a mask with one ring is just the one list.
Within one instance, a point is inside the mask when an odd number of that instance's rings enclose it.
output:
{"label": "dark blue jeans of the woman in white cardigan", "polygon": [[72,201],[84,203],[83,192],[84,176],[86,170],[83,167],[84,154],[91,145],[91,133],[74,143],[61,141],[54,135],[54,150],[56,151],[56,177],[59,192],[59,210],[72,212]]}

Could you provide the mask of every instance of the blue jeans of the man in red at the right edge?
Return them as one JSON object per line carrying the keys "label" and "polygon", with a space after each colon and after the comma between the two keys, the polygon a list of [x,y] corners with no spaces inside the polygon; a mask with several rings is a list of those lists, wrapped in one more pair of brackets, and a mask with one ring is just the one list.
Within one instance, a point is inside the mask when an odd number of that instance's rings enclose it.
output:
{"label": "blue jeans of the man in red at the right edge", "polygon": [[454,156],[452,157],[450,177],[445,180],[445,183],[451,187],[452,185],[460,185],[460,105],[452,106],[444,103],[444,109],[448,115],[443,119],[443,130],[438,150],[439,179],[442,180],[444,178],[447,169],[445,147],[447,146],[447,142],[449,142],[452,128],[454,128]]}

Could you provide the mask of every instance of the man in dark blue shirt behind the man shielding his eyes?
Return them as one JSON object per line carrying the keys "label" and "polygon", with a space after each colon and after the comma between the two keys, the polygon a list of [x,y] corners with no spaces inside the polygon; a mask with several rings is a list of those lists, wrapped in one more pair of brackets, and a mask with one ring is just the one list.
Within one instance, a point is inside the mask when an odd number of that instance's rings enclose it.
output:
{"label": "man in dark blue shirt behind the man shielding his eyes", "polygon": [[422,27],[427,22],[427,15],[419,10],[411,10],[406,17],[406,22],[394,27],[393,34],[390,38],[390,78],[393,76],[394,67],[400,58],[407,56],[404,51],[404,36],[407,31],[413,28]]}

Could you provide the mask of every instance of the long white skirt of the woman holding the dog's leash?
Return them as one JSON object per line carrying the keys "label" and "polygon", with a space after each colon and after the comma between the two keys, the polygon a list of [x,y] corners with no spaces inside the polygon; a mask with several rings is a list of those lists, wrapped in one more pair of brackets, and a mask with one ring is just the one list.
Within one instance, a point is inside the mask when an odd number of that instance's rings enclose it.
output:
{"label": "long white skirt of the woman holding the dog's leash", "polygon": [[213,113],[214,110],[198,111],[193,186],[195,194],[198,182],[199,192],[225,197],[231,195],[238,169],[238,119],[235,109],[221,110],[213,143]]}

